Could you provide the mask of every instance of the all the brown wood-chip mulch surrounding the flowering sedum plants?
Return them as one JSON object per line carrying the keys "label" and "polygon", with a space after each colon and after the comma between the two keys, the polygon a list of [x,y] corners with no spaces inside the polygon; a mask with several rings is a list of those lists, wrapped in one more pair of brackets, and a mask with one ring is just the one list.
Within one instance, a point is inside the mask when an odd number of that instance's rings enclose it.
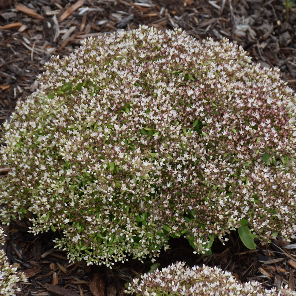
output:
{"label": "all the brown wood-chip mulch surrounding the flowering sedum plants", "polygon": [[[65,56],[83,38],[139,24],[181,27],[197,39],[226,37],[242,45],[254,62],[279,67],[295,90],[295,22],[295,6],[287,13],[281,0],[0,0],[0,122],[9,119],[17,100],[38,87],[36,75],[44,71],[50,55]],[[65,252],[54,249],[58,232],[34,237],[28,226],[26,220],[4,226],[7,256],[29,278],[20,284],[19,295],[119,296],[132,277],[150,269],[149,260],[130,260],[112,270],[83,261],[69,263]],[[177,260],[216,265],[242,282],[258,280],[267,288],[287,285],[296,290],[295,243],[279,238],[248,250],[233,232],[225,246],[216,241],[213,255],[204,257],[193,255],[185,239],[171,239],[171,249],[161,253],[157,263],[159,268]]]}

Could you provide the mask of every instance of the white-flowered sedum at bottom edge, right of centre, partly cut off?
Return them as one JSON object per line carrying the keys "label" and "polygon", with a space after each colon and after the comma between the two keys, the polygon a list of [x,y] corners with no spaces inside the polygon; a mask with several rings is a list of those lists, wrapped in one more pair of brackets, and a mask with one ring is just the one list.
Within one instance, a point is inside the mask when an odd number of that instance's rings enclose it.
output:
{"label": "white-flowered sedum at bottom edge, right of centre, partly cut off", "polygon": [[134,279],[125,292],[136,296],[296,296],[296,292],[287,289],[266,290],[257,281],[240,283],[229,271],[216,266],[184,266],[184,262],[177,262],[144,274],[141,280]]}

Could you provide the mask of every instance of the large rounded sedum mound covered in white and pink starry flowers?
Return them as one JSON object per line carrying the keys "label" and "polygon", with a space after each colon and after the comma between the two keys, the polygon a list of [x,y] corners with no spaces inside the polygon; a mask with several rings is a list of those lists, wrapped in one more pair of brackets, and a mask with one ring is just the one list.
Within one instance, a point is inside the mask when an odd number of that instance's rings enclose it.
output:
{"label": "large rounded sedum mound covered in white and pink starry flowers", "polygon": [[296,233],[296,97],[242,47],[143,26],[46,67],[4,124],[4,223],[30,212],[70,259],[107,266],[169,237],[205,252],[232,229]]}

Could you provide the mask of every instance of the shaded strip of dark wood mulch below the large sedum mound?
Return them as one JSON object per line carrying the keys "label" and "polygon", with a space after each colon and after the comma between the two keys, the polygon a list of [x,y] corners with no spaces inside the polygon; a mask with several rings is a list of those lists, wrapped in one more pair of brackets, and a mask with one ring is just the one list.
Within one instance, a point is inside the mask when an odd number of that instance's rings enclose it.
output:
{"label": "shaded strip of dark wood mulch below the large sedum mound", "polygon": [[[12,222],[4,229],[9,233],[6,242],[9,260],[29,278],[28,283],[20,284],[20,296],[122,296],[126,295],[123,290],[127,283],[149,272],[153,264],[149,258],[142,263],[131,257],[125,263],[116,263],[112,269],[104,265],[87,266],[84,261],[69,262],[65,251],[54,248],[53,240],[61,237],[61,232],[34,236],[27,232],[25,221]],[[293,289],[291,267],[296,255],[295,251],[283,249],[287,242],[279,239],[266,246],[257,244],[256,250],[249,250],[237,231],[232,231],[228,238],[225,245],[215,239],[210,256],[193,254],[186,239],[172,238],[170,249],[161,251],[155,263],[158,269],[177,261],[184,261],[188,266],[218,266],[230,271],[240,282],[259,280],[267,289],[280,289],[286,284]]]}

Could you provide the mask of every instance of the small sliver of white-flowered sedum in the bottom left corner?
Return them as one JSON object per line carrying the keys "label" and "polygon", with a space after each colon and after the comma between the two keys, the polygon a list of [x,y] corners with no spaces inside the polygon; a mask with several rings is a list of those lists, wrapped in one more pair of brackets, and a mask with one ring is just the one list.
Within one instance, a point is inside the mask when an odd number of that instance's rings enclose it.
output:
{"label": "small sliver of white-flowered sedum in the bottom left corner", "polygon": [[[4,245],[5,234],[0,226],[0,244]],[[16,286],[19,281],[28,281],[25,274],[17,272],[16,267],[12,267],[7,262],[4,250],[0,249],[0,295],[16,296],[20,292],[20,288]]]}

